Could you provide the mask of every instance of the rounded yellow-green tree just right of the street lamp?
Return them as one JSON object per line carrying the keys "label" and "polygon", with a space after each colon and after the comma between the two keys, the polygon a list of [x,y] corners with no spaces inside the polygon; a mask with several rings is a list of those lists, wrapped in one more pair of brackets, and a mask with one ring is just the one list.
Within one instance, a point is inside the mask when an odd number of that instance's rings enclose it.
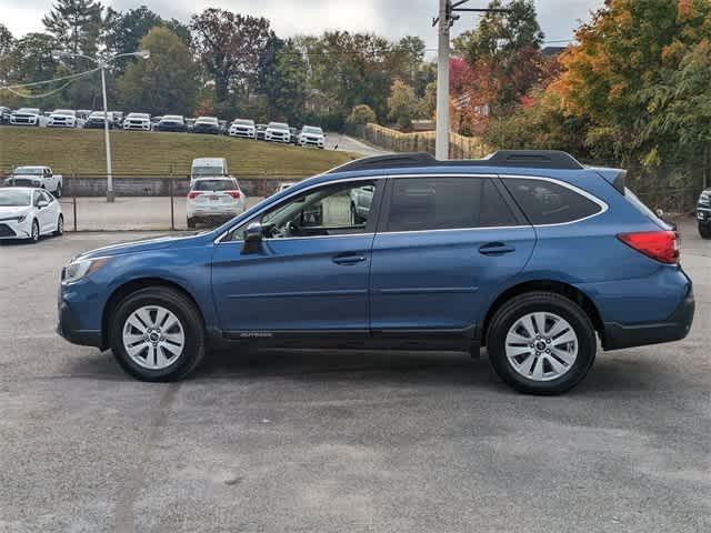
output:
{"label": "rounded yellow-green tree just right of the street lamp", "polygon": [[129,64],[118,79],[119,102],[153,114],[168,110],[191,114],[198,94],[198,68],[183,40],[166,28],[153,28],[139,46],[150,50],[151,57]]}

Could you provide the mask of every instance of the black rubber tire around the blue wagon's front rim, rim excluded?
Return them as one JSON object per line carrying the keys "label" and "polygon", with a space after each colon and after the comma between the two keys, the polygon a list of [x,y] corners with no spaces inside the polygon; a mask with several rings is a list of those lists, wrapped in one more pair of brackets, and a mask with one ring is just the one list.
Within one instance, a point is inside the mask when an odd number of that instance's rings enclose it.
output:
{"label": "black rubber tire around the blue wagon's front rim, rim excluded", "polygon": [[[176,314],[183,326],[186,345],[178,359],[168,368],[150,370],[136,363],[123,348],[122,331],[128,316],[139,308],[161,305]],[[182,379],[202,359],[204,332],[191,302],[176,291],[166,288],[142,289],[123,300],[109,323],[110,344],[121,368],[141,381],[166,382]]]}

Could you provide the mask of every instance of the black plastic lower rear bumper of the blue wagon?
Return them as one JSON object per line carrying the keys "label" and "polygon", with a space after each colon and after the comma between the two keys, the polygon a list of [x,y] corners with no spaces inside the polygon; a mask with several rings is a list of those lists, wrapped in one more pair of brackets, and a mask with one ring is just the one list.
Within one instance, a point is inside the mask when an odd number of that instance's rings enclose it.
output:
{"label": "black plastic lower rear bumper of the blue wagon", "polygon": [[691,330],[694,309],[693,290],[690,286],[687,296],[664,322],[634,325],[605,322],[602,348],[611,351],[680,341]]}

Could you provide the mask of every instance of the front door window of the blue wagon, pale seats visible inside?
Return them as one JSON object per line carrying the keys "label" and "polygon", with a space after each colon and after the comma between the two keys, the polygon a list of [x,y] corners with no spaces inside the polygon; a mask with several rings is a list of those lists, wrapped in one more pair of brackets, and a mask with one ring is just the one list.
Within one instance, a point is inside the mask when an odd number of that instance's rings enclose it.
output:
{"label": "front door window of the blue wagon, pale seats visible inside", "polygon": [[310,189],[269,209],[232,231],[242,240],[248,225],[260,222],[264,239],[330,237],[364,233],[373,205],[375,182],[334,183]]}

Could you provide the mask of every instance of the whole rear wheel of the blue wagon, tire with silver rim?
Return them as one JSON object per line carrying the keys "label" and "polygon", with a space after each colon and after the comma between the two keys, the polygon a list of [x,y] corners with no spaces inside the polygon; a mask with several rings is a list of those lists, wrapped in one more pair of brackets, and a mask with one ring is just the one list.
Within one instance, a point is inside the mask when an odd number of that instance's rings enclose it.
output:
{"label": "whole rear wheel of the blue wagon, tire with silver rim", "polygon": [[[540,313],[534,318],[535,324],[543,319],[541,341],[538,333],[527,334],[527,323],[537,329],[527,322],[532,313]],[[554,331],[559,326],[561,330]],[[540,333],[541,328],[538,330]],[[547,338],[545,332],[551,336]],[[561,343],[571,334],[574,341]],[[571,300],[549,292],[529,292],[505,302],[491,320],[487,345],[489,361],[501,380],[519,392],[539,395],[562,394],[579,384],[597,352],[590,318]],[[517,352],[521,354],[512,356]]]}

